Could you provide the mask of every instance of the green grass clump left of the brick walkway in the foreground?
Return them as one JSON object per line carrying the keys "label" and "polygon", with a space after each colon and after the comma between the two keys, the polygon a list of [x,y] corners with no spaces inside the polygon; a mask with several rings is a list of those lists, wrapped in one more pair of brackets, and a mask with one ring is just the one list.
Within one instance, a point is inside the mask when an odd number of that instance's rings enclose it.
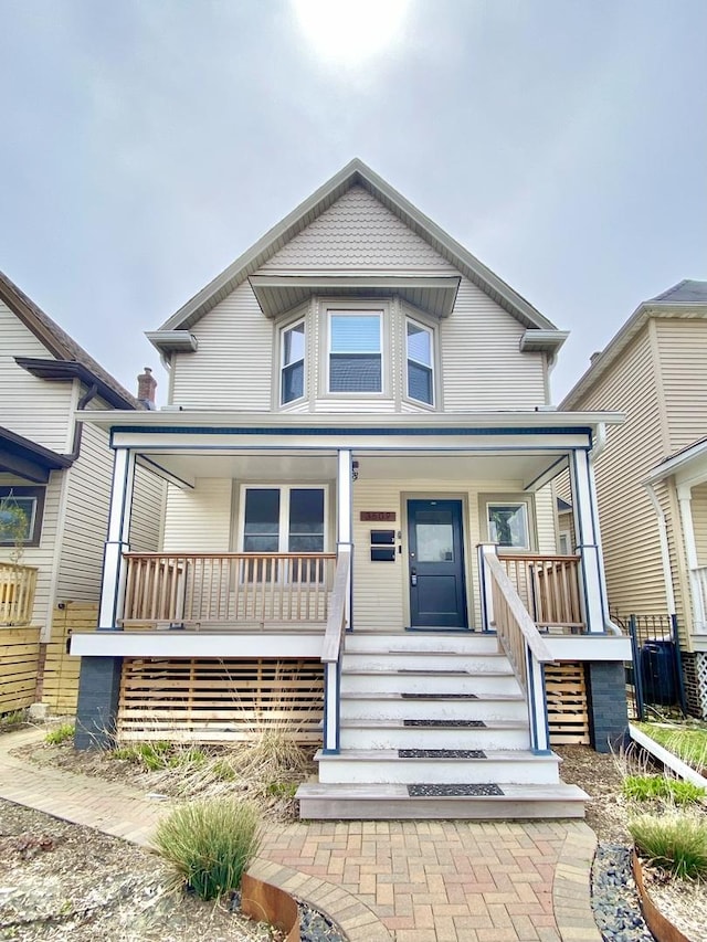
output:
{"label": "green grass clump left of the brick walkway in the foreground", "polygon": [[155,846],[184,882],[204,900],[236,890],[260,846],[254,805],[230,797],[176,808],[157,826]]}

